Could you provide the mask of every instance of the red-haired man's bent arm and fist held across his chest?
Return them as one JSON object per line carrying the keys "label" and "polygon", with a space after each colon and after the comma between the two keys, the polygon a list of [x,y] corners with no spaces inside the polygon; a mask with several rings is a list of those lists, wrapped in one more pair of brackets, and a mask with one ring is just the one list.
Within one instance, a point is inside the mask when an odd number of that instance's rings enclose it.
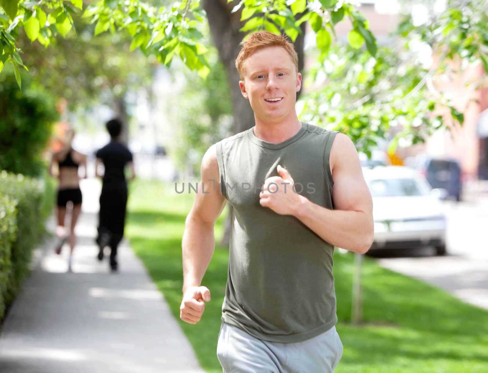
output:
{"label": "red-haired man's bent arm and fist held across his chest", "polygon": [[[374,236],[373,203],[356,148],[346,135],[336,135],[330,152],[330,166],[334,180],[332,199],[335,210],[319,206],[305,196],[295,193],[282,194],[285,199],[264,203],[270,204],[266,207],[279,214],[297,217],[330,244],[364,254],[371,246]],[[281,169],[280,175],[285,181],[293,182],[285,169]],[[271,182],[268,180],[266,183]],[[262,195],[264,198],[272,199],[280,193]]]}

